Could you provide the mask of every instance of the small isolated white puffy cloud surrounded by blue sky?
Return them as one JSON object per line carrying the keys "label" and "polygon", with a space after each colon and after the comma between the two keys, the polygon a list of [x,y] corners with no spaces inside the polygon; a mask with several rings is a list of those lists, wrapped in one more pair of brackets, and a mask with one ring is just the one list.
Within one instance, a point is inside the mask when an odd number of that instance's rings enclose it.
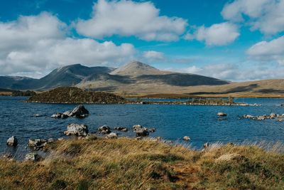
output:
{"label": "small isolated white puffy cloud surrounded by blue sky", "polygon": [[187,33],[185,39],[204,41],[207,46],[224,46],[239,37],[239,28],[233,23],[215,23],[206,28],[200,26],[195,33]]}

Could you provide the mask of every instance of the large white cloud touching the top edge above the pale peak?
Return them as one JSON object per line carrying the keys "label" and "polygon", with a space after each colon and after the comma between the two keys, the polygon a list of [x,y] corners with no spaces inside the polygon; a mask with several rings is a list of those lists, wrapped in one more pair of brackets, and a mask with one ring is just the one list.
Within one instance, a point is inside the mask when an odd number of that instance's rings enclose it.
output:
{"label": "large white cloud touching the top edge above the pale peak", "polygon": [[79,20],[77,32],[92,38],[136,36],[146,41],[177,41],[185,32],[187,21],[177,17],[159,16],[151,1],[106,1],[94,4],[92,18]]}

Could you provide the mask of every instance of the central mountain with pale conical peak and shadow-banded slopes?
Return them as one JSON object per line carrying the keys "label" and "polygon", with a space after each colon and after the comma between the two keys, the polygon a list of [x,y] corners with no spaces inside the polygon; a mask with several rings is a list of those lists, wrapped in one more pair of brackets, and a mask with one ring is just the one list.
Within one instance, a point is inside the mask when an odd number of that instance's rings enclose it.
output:
{"label": "central mountain with pale conical peak and shadow-banded slopes", "polygon": [[[77,84],[80,88],[94,90],[116,91],[122,89],[136,89],[139,91],[153,89],[153,85],[187,87],[195,85],[224,85],[226,80],[209,78],[202,75],[174,73],[158,70],[151,65],[133,61],[117,68],[109,74],[94,74]],[[128,91],[128,90],[126,90]]]}

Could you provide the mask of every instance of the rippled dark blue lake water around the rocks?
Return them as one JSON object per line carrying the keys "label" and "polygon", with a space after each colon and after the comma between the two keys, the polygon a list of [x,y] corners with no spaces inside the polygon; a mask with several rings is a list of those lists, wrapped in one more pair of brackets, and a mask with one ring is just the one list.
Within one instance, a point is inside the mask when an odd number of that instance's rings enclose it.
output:
{"label": "rippled dark blue lake water around the rocks", "polygon": [[[260,104],[259,107],[202,106],[202,105],[85,105],[90,115],[84,119],[53,119],[56,112],[72,110],[76,105],[23,103],[26,97],[0,97],[0,153],[14,152],[22,155],[28,152],[29,138],[65,137],[63,132],[72,122],[88,125],[90,132],[97,127],[129,127],[129,132],[120,135],[134,137],[131,127],[136,124],[155,127],[150,137],[162,137],[175,142],[188,143],[195,148],[205,142],[284,142],[284,122],[276,120],[240,120],[241,115],[264,115],[284,113],[279,106],[284,99],[239,98],[236,102]],[[228,116],[219,120],[217,112]],[[33,117],[35,114],[43,117]],[[12,135],[18,138],[18,147],[6,147],[6,140]],[[190,142],[183,142],[185,135]]]}

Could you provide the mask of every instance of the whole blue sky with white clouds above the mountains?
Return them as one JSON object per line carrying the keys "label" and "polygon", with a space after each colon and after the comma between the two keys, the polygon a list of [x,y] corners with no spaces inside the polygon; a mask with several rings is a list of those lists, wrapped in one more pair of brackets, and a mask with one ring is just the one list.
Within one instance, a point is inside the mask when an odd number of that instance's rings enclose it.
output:
{"label": "whole blue sky with white clouds above the mountains", "polygon": [[132,60],[231,81],[284,78],[284,0],[0,0],[0,75]]}

